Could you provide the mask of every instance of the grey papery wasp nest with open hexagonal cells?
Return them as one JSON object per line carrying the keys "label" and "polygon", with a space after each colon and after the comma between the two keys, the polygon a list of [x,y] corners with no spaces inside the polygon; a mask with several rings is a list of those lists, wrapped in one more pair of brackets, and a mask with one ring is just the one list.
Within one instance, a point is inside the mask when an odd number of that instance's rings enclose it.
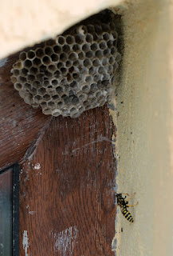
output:
{"label": "grey papery wasp nest with open hexagonal cells", "polygon": [[110,22],[73,27],[41,47],[23,51],[12,82],[25,102],[44,114],[77,118],[110,100],[120,54]]}

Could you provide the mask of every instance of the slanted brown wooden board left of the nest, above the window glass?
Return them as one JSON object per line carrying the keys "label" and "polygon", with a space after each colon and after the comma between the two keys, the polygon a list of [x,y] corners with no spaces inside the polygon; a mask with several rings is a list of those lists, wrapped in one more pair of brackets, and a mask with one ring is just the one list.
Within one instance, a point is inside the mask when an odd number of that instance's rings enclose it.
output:
{"label": "slanted brown wooden board left of the nest, above the window glass", "polygon": [[42,126],[50,120],[41,110],[27,105],[10,82],[10,70],[18,54],[0,67],[0,170],[20,161],[29,143],[39,137]]}

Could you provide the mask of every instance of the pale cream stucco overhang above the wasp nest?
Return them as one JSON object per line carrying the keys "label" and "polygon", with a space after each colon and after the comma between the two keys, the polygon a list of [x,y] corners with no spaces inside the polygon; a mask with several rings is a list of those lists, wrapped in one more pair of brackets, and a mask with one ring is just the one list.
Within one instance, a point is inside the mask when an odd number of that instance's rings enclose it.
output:
{"label": "pale cream stucco overhang above the wasp nest", "polygon": [[122,0],[2,0],[0,58],[61,34],[80,20]]}

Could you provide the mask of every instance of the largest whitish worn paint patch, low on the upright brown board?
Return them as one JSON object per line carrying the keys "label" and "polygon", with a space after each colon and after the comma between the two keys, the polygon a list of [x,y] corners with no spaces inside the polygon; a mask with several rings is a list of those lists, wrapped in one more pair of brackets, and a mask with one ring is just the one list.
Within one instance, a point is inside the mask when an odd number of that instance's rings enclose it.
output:
{"label": "largest whitish worn paint patch, low on the upright brown board", "polygon": [[60,251],[62,256],[73,255],[74,244],[77,240],[77,226],[70,226],[69,229],[62,230],[56,234],[53,231],[50,232],[50,236],[54,239],[53,249]]}

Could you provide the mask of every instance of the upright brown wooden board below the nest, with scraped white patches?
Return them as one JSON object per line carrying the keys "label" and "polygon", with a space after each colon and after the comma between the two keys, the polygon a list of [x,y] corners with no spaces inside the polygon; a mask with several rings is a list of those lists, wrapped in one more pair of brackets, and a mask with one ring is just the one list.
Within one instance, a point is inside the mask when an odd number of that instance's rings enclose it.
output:
{"label": "upright brown wooden board below the nest, with scraped white patches", "polygon": [[42,130],[21,170],[21,256],[114,255],[114,130],[105,106],[76,119],[53,118]]}

